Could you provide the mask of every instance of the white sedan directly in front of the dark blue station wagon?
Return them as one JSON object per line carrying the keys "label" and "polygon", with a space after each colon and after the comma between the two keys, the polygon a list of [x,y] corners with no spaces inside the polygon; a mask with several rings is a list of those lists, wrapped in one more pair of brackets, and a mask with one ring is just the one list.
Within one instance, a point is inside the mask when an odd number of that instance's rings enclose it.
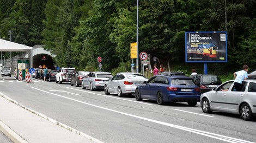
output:
{"label": "white sedan directly in front of the dark blue station wagon", "polygon": [[138,85],[148,81],[147,77],[139,73],[117,73],[109,80],[104,87],[105,94],[118,94],[119,97],[124,94],[134,94]]}

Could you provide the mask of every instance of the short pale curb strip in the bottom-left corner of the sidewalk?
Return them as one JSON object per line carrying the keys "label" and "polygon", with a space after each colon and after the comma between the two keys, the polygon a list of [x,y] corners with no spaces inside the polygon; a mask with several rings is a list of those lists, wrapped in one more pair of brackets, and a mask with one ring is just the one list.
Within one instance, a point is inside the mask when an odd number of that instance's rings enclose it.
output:
{"label": "short pale curb strip in the bottom-left corner of the sidewalk", "polygon": [[3,132],[3,134],[5,134],[14,143],[28,143],[13,130],[11,130],[7,125],[5,125],[2,121],[0,121],[0,131]]}

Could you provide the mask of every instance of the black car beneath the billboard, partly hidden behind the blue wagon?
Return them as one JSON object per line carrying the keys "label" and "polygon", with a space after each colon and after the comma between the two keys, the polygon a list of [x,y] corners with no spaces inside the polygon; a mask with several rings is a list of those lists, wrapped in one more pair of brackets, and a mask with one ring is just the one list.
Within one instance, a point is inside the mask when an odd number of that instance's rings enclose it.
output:
{"label": "black car beneath the billboard, partly hidden behind the blue wagon", "polygon": [[209,92],[212,88],[216,88],[222,84],[221,79],[213,74],[197,74],[191,75],[190,77],[200,87],[201,94]]}

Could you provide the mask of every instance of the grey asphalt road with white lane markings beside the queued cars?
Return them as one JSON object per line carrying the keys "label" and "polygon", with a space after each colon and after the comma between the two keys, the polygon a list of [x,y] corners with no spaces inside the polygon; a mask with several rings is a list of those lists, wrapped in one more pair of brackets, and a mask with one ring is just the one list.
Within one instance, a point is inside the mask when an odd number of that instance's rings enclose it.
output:
{"label": "grey asphalt road with white lane markings beside the queued cars", "polygon": [[0,78],[0,92],[21,105],[102,142],[256,142],[256,122],[205,114],[187,103],[157,105],[55,82]]}

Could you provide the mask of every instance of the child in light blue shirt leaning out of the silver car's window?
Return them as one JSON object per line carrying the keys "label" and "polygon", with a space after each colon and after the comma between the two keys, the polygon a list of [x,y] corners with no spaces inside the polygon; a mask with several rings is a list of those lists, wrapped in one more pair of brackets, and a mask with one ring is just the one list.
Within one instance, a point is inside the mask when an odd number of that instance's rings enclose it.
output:
{"label": "child in light blue shirt leaning out of the silver car's window", "polygon": [[234,87],[236,91],[242,90],[243,88],[242,81],[248,78],[248,74],[247,74],[248,69],[249,67],[245,64],[243,65],[242,70],[234,73],[234,77],[235,77]]}

